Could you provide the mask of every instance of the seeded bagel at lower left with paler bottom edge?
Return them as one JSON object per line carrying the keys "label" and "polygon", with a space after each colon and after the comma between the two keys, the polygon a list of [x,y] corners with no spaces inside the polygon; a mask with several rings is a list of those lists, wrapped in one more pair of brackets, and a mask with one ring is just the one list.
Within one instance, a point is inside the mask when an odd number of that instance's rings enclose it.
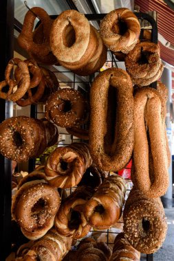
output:
{"label": "seeded bagel at lower left with paler bottom edge", "polygon": [[[40,208],[34,209],[40,200],[44,201],[44,207],[40,205]],[[30,181],[18,190],[12,205],[12,215],[24,235],[29,233],[36,240],[53,226],[59,205],[60,196],[56,190],[40,180]]]}

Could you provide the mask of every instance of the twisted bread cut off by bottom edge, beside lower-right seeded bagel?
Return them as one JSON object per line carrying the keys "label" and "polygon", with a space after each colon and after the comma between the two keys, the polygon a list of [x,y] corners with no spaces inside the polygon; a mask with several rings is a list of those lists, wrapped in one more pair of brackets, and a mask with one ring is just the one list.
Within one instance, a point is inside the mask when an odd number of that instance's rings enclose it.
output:
{"label": "twisted bread cut off by bottom edge, beside lower-right seeded bagel", "polygon": [[140,252],[131,247],[129,242],[124,238],[123,233],[118,234],[115,238],[110,261],[121,260],[140,261]]}

